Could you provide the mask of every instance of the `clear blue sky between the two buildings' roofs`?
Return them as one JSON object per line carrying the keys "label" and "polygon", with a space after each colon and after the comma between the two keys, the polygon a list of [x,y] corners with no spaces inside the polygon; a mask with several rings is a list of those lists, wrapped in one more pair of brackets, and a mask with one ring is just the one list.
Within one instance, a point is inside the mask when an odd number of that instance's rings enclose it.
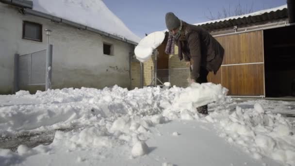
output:
{"label": "clear blue sky between the two buildings' roofs", "polygon": [[223,8],[233,9],[239,3],[253,11],[286,4],[287,0],[103,0],[107,7],[139,37],[166,29],[165,14],[174,12],[188,23],[208,21],[206,16],[217,15]]}

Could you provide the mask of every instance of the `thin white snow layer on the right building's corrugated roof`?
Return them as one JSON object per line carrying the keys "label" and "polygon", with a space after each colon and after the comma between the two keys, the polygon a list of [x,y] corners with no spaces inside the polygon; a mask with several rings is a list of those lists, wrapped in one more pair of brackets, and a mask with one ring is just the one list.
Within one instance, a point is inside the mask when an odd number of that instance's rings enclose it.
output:
{"label": "thin white snow layer on the right building's corrugated roof", "polygon": [[216,20],[196,23],[194,25],[205,25],[205,24],[217,23],[217,22],[222,22],[222,21],[229,21],[229,20],[232,20],[232,19],[244,18],[244,17],[249,17],[249,16],[250,17],[259,16],[259,15],[263,15],[265,13],[270,13],[270,12],[276,12],[278,10],[283,10],[285,8],[287,8],[287,4],[279,6],[279,7],[271,8],[271,9],[260,10],[260,11],[249,13],[249,14],[246,14],[246,15],[233,16],[233,17],[227,17],[227,18],[222,18],[222,19],[216,19]]}

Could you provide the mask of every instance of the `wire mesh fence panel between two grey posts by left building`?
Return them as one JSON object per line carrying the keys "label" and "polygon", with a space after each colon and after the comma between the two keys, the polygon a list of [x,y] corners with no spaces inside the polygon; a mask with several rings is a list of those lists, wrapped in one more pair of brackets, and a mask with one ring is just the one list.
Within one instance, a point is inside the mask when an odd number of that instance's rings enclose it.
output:
{"label": "wire mesh fence panel between two grey posts by left building", "polygon": [[19,56],[19,85],[45,85],[46,50]]}

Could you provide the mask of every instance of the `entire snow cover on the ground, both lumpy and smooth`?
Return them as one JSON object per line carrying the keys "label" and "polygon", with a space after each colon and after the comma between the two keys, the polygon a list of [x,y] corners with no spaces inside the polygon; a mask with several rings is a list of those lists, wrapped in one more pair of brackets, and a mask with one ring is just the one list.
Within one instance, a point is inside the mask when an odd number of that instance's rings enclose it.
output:
{"label": "entire snow cover on the ground, both lumpy and smooth", "polygon": [[[285,117],[295,114],[295,102],[226,93],[194,83],[0,96],[0,147],[19,135],[34,135],[29,142],[52,135],[51,144],[0,149],[0,165],[295,166],[295,121]],[[207,103],[209,116],[198,114]]]}

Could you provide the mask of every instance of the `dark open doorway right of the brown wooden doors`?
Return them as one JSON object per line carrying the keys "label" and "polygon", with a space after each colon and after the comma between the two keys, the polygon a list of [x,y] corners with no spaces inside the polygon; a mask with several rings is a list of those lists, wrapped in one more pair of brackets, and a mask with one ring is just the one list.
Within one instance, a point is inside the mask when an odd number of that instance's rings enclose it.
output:
{"label": "dark open doorway right of the brown wooden doors", "polygon": [[295,26],[263,31],[265,97],[295,97]]}

